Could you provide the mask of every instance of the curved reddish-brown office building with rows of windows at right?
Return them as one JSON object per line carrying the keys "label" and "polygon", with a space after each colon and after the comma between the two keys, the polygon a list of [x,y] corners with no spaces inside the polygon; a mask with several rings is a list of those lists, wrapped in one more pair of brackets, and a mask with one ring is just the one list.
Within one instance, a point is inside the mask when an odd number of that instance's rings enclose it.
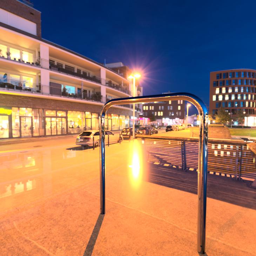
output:
{"label": "curved reddish-brown office building with rows of windows at right", "polygon": [[[245,125],[256,126],[256,70],[230,69],[210,73],[209,112],[217,114],[224,108],[235,122],[242,111]],[[237,122],[235,122],[237,124]]]}

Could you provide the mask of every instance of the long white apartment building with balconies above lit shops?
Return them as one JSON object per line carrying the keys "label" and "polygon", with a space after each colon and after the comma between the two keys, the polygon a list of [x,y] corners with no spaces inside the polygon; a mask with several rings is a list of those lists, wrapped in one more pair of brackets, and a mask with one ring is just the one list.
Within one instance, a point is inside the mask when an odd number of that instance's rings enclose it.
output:
{"label": "long white apartment building with balconies above lit shops", "polygon": [[[103,104],[131,95],[127,77],[42,39],[41,13],[26,1],[0,2],[0,139],[98,129]],[[132,105],[112,107],[106,128],[131,116]]]}

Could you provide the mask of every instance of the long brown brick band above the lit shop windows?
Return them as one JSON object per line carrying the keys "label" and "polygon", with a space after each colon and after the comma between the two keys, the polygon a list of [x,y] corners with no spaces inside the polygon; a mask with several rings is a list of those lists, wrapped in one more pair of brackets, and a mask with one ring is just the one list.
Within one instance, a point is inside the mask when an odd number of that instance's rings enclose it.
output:
{"label": "long brown brick band above the lit shop windows", "polygon": [[[102,106],[79,103],[72,101],[51,100],[37,97],[16,96],[0,94],[0,106],[2,107],[23,107],[23,108],[42,108],[54,110],[74,110],[100,113]],[[109,114],[132,115],[132,110],[118,109],[111,107]]]}

